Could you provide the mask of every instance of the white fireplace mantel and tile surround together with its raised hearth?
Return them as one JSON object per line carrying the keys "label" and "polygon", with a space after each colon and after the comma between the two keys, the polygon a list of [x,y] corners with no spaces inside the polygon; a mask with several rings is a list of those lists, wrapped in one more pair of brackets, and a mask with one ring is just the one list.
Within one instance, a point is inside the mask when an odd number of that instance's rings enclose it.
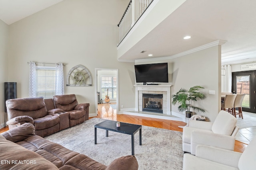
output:
{"label": "white fireplace mantel and tile surround together with its raised hearth", "polygon": [[[135,109],[123,111],[124,114],[153,117],[158,119],[170,119],[182,121],[181,117],[171,115],[171,85],[134,85],[135,86]],[[143,94],[163,94],[163,113],[149,113],[142,111]]]}

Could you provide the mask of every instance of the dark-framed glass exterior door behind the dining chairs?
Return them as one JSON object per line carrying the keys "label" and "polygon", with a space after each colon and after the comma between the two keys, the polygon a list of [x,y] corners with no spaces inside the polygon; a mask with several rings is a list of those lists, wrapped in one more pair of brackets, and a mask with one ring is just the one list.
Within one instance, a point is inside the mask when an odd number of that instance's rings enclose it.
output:
{"label": "dark-framed glass exterior door behind the dining chairs", "polygon": [[246,94],[242,103],[242,111],[256,113],[256,71],[232,72],[232,92]]}

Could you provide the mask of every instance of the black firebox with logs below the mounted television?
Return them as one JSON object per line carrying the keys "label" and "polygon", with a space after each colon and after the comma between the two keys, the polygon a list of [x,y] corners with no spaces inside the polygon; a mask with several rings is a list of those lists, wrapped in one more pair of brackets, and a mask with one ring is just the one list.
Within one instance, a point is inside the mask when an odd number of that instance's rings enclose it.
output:
{"label": "black firebox with logs below the mounted television", "polygon": [[142,94],[142,111],[163,113],[163,94]]}

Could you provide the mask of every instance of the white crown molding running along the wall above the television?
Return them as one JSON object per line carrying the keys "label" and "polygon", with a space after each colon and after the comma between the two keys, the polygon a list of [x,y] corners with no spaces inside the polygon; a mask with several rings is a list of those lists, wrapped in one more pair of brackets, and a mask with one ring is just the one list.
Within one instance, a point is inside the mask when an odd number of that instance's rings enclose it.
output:
{"label": "white crown molding running along the wall above the television", "polygon": [[172,56],[168,56],[168,57],[150,58],[150,59],[138,59],[138,60],[135,60],[135,63],[175,59],[175,58],[178,58],[178,57],[182,57],[184,55],[188,55],[188,54],[191,54],[191,53],[195,53],[197,51],[201,51],[201,50],[204,50],[204,49],[207,49],[207,48],[210,48],[210,47],[214,47],[216,45],[223,45],[226,42],[227,41],[224,41],[224,40],[217,40],[217,41],[214,41],[212,43],[208,43],[208,44],[202,45],[200,47],[196,47],[194,49],[190,49],[188,51],[184,51],[184,52],[176,54],[176,55],[172,55]]}

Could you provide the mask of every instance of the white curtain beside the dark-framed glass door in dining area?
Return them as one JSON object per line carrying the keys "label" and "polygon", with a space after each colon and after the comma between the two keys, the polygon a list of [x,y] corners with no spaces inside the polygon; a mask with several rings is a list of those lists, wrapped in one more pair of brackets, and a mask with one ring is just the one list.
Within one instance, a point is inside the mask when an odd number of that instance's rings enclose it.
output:
{"label": "white curtain beside the dark-framed glass door in dining area", "polygon": [[[232,87],[232,66],[231,64],[222,65],[221,92],[231,92]],[[224,69],[224,70],[223,70]]]}

